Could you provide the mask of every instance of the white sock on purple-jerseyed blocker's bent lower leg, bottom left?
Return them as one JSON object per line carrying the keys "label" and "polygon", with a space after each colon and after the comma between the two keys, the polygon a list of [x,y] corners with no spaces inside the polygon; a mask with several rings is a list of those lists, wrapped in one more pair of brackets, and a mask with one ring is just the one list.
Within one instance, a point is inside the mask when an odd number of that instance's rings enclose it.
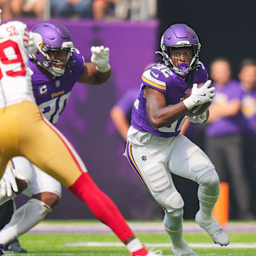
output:
{"label": "white sock on purple-jerseyed blocker's bent lower leg, bottom left", "polygon": [[11,220],[0,232],[0,243],[7,244],[18,236],[26,233],[36,224],[40,223],[47,213],[51,212],[50,206],[42,201],[32,198],[18,208]]}

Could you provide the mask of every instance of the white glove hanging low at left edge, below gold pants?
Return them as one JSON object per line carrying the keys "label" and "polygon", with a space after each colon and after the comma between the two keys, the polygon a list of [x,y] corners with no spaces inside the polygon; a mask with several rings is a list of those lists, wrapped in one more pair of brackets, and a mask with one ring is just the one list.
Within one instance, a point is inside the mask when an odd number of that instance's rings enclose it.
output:
{"label": "white glove hanging low at left edge, below gold pants", "polygon": [[6,166],[4,176],[0,180],[1,196],[8,196],[11,198],[13,191],[18,192],[18,186],[15,180],[14,173],[9,165]]}

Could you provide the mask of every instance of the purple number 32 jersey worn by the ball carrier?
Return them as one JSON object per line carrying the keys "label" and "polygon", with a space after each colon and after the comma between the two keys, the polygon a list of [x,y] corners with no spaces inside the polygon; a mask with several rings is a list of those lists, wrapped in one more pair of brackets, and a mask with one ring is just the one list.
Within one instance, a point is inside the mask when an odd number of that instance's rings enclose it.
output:
{"label": "purple number 32 jersey worn by the ball carrier", "polygon": [[166,106],[175,105],[184,100],[186,90],[197,82],[206,82],[208,72],[203,63],[200,62],[200,68],[190,73],[191,81],[188,85],[179,75],[164,63],[156,63],[147,68],[142,75],[142,85],[139,97],[134,102],[132,110],[132,126],[142,132],[150,132],[158,137],[174,137],[179,134],[181,127],[185,122],[185,115],[168,127],[155,129],[149,122],[146,114],[146,99],[143,97],[145,86],[154,88],[163,92],[166,99]]}

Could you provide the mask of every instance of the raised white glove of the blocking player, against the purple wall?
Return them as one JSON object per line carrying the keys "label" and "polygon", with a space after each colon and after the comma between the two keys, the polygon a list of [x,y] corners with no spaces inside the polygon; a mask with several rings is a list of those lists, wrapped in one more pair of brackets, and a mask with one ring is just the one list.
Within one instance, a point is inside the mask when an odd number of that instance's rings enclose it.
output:
{"label": "raised white glove of the blocking player, against the purple wall", "polygon": [[95,64],[100,73],[110,70],[110,49],[104,46],[92,46],[91,62]]}

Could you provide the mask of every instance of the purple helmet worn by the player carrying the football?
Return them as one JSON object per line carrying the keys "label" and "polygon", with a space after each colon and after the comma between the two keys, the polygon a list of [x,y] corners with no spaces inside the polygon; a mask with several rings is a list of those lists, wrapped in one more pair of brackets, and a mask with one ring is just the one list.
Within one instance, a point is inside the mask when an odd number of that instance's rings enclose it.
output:
{"label": "purple helmet worn by the player carrying the football", "polygon": [[[171,50],[173,48],[188,47],[192,49],[193,57],[190,65],[181,64],[178,67],[174,66],[171,60]],[[199,52],[201,49],[201,43],[198,40],[196,32],[186,24],[174,24],[164,31],[161,37],[161,55],[166,65],[171,67],[178,75],[186,75],[188,72],[198,68]]]}

